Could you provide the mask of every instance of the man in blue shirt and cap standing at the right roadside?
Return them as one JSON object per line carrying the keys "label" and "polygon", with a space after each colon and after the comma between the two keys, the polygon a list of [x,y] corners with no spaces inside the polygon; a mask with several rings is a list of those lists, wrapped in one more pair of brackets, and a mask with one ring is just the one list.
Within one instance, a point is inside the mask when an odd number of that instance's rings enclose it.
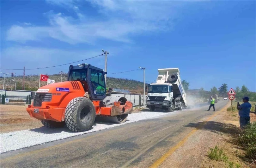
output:
{"label": "man in blue shirt and cap standing at the right roadside", "polygon": [[237,109],[238,114],[240,116],[239,123],[240,128],[244,129],[246,125],[250,123],[250,110],[251,110],[251,104],[249,103],[249,98],[247,96],[243,97],[243,104],[240,105],[239,102],[237,102]]}

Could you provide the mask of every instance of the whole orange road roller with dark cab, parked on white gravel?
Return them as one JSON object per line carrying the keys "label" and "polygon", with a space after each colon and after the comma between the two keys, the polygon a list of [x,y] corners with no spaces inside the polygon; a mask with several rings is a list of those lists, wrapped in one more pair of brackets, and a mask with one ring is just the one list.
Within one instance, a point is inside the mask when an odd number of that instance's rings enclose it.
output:
{"label": "whole orange road roller with dark cab, parked on white gravel", "polygon": [[123,123],[133,104],[124,97],[106,96],[105,74],[90,64],[70,65],[67,81],[40,87],[26,110],[48,128],[67,125],[73,132],[89,130],[96,117]]}

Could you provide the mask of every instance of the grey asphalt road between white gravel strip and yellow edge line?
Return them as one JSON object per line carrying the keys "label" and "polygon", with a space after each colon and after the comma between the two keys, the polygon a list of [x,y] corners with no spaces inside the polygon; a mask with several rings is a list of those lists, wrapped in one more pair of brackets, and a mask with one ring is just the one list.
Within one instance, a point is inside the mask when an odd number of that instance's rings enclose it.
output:
{"label": "grey asphalt road between white gravel strip and yellow edge line", "polygon": [[214,114],[208,106],[3,153],[1,167],[149,167],[191,132],[189,123]]}

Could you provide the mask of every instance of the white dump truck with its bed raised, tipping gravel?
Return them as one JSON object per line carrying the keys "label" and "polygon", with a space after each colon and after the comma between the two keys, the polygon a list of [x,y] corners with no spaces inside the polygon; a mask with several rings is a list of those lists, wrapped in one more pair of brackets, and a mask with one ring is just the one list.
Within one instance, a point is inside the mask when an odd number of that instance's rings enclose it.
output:
{"label": "white dump truck with its bed raised, tipping gravel", "polygon": [[187,106],[179,68],[158,69],[156,83],[148,85],[147,107],[151,111],[162,108],[173,112],[175,109],[186,109]]}

